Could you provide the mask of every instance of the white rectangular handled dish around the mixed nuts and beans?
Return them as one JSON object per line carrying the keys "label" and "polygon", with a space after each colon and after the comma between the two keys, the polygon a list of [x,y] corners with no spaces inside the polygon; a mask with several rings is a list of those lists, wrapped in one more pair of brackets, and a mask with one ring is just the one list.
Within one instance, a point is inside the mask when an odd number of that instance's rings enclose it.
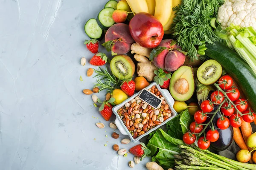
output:
{"label": "white rectangular handled dish around the mixed nuts and beans", "polygon": [[137,94],[134,94],[133,96],[131,96],[130,98],[126,99],[125,101],[123,101],[122,103],[120,103],[119,105],[116,105],[115,107],[112,108],[113,113],[116,115],[116,120],[115,120],[115,124],[116,127],[119,129],[119,131],[123,134],[123,135],[128,135],[131,138],[132,142],[137,142],[138,140],[140,140],[141,138],[143,138],[144,136],[147,136],[149,133],[151,133],[154,130],[157,130],[159,127],[165,125],[169,120],[173,119],[175,116],[177,116],[177,112],[174,110],[173,108],[173,104],[174,104],[174,99],[172,98],[171,94],[169,93],[168,90],[166,89],[162,89],[160,88],[159,85],[157,85],[156,82],[151,83],[151,85],[149,85],[148,87],[146,87],[146,89],[151,88],[152,86],[156,86],[158,88],[158,90],[160,91],[161,95],[164,97],[164,100],[166,101],[166,104],[169,105],[170,110],[172,111],[172,116],[169,117],[168,119],[166,119],[163,123],[161,123],[160,125],[157,125],[156,127],[152,128],[151,130],[148,130],[148,132],[144,133],[143,135],[140,135],[139,137],[137,137],[136,139],[133,138],[133,136],[131,136],[131,133],[129,132],[129,130],[127,129],[127,127],[125,126],[125,124],[122,122],[122,119],[120,118],[120,116],[118,115],[117,111],[122,108],[125,103],[130,102],[132,99],[134,99],[136,96],[139,96],[140,92],[139,91]]}

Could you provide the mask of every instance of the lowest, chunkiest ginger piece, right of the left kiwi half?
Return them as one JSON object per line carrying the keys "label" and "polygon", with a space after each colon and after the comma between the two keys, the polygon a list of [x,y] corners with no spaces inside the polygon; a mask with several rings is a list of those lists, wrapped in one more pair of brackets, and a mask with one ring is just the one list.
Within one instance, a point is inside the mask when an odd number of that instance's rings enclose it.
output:
{"label": "lowest, chunkiest ginger piece, right of the left kiwi half", "polygon": [[158,68],[152,62],[139,62],[137,65],[138,76],[145,77],[149,82],[154,80],[154,71]]}

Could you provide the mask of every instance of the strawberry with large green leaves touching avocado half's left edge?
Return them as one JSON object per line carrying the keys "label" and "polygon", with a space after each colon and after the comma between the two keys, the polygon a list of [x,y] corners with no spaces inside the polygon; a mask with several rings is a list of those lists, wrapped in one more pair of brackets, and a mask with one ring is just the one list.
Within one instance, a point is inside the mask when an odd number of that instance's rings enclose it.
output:
{"label": "strawberry with large green leaves touching avocado half's left edge", "polygon": [[155,70],[154,74],[156,74],[156,76],[154,77],[154,81],[157,82],[157,84],[159,84],[161,88],[169,88],[171,78],[170,73],[168,73],[167,71],[163,71],[163,69],[160,68],[159,70]]}

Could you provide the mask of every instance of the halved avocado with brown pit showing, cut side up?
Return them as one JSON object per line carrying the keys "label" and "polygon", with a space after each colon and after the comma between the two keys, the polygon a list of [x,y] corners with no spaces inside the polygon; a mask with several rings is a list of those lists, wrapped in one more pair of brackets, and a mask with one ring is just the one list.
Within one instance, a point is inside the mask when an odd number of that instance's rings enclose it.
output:
{"label": "halved avocado with brown pit showing, cut side up", "polygon": [[195,91],[193,68],[185,65],[178,68],[172,74],[169,90],[177,101],[185,102],[190,99]]}

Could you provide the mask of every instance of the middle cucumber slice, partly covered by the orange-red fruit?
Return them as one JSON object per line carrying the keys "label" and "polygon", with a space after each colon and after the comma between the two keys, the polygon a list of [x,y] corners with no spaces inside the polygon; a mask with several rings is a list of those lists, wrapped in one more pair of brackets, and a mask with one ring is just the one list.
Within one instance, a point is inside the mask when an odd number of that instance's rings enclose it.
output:
{"label": "middle cucumber slice, partly covered by the orange-red fruit", "polygon": [[112,18],[112,14],[114,11],[114,8],[104,8],[99,12],[99,15],[97,17],[97,23],[99,24],[100,28],[106,30],[115,23]]}

